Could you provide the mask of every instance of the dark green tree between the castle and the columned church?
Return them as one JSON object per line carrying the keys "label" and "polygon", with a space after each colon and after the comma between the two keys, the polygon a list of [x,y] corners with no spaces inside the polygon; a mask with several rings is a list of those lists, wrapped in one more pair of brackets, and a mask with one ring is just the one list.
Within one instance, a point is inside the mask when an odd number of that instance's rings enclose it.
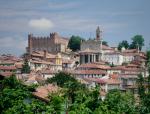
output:
{"label": "dark green tree between the castle and the columned church", "polygon": [[68,43],[68,47],[72,50],[72,51],[78,51],[80,50],[80,44],[81,44],[81,40],[83,40],[83,38],[81,38],[80,36],[71,36],[69,43]]}

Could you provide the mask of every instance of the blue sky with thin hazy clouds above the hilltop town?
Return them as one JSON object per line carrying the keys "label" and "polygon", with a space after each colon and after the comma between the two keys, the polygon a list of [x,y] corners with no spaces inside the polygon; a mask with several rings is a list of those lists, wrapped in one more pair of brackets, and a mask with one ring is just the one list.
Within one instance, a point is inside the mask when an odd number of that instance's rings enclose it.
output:
{"label": "blue sky with thin hazy clouds above the hilltop town", "polygon": [[94,38],[97,26],[110,46],[137,34],[150,47],[150,0],[0,0],[0,54],[21,55],[28,34]]}

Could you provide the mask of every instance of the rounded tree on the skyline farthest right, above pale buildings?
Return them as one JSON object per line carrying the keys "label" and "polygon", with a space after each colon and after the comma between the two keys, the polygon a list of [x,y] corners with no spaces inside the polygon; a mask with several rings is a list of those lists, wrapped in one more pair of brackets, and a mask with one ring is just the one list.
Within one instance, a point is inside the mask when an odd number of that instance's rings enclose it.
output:
{"label": "rounded tree on the skyline farthest right, above pale buildings", "polygon": [[142,50],[142,47],[144,46],[144,38],[142,35],[135,35],[132,38],[132,43],[130,44],[130,49],[137,49]]}

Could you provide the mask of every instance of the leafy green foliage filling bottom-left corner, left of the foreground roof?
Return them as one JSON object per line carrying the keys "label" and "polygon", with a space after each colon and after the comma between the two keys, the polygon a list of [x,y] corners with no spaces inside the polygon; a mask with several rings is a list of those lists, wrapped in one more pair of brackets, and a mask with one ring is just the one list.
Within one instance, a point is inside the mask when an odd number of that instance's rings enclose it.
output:
{"label": "leafy green foliage filling bottom-left corner, left of the foreground roof", "polygon": [[15,76],[1,81],[0,109],[2,114],[35,114],[46,111],[45,103],[33,98],[29,88]]}

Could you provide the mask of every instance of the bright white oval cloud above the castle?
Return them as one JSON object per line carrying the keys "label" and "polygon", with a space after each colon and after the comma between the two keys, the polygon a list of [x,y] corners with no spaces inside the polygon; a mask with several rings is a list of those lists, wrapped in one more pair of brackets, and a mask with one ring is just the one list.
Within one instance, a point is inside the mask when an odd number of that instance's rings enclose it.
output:
{"label": "bright white oval cloud above the castle", "polygon": [[41,19],[32,19],[29,21],[29,26],[35,29],[47,30],[54,27],[54,24],[51,20],[46,18]]}

